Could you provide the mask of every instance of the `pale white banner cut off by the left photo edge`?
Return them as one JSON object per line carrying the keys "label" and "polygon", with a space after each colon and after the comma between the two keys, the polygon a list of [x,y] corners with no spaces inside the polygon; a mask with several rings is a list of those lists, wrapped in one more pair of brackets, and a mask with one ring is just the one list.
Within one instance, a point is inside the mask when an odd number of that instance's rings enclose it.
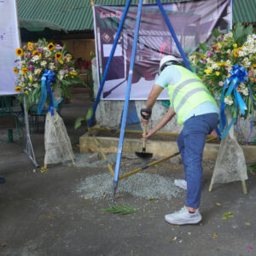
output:
{"label": "pale white banner cut off by the left photo edge", "polygon": [[15,0],[0,0],[0,95],[16,94],[15,49],[20,47]]}

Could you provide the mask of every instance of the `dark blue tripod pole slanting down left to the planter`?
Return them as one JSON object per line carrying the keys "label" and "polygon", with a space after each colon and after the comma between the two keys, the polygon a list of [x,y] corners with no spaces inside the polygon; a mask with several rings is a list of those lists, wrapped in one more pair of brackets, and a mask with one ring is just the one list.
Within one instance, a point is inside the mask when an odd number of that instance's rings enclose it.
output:
{"label": "dark blue tripod pole slanting down left to the planter", "polygon": [[118,31],[117,31],[117,33],[116,33],[116,37],[114,38],[114,41],[113,41],[113,47],[112,47],[111,52],[110,52],[110,55],[109,55],[109,57],[108,57],[107,66],[106,66],[106,68],[105,68],[105,71],[104,71],[104,74],[103,74],[103,77],[102,77],[102,82],[101,82],[100,88],[99,88],[98,93],[97,93],[97,96],[96,96],[96,101],[95,101],[95,103],[94,103],[94,105],[93,105],[93,113],[92,113],[92,116],[91,116],[91,118],[90,118],[90,120],[89,120],[89,122],[88,122],[88,126],[89,126],[89,127],[92,125],[92,121],[93,121],[94,115],[95,115],[95,113],[96,113],[96,108],[97,108],[97,106],[98,106],[98,103],[99,103],[99,101],[100,101],[100,97],[101,97],[101,95],[102,95],[102,89],[103,89],[103,86],[104,86],[104,84],[105,84],[105,80],[106,80],[107,73],[108,73],[108,68],[109,68],[110,63],[111,63],[111,61],[112,61],[112,59],[113,59],[113,54],[114,54],[114,51],[115,51],[115,49],[116,49],[116,46],[117,46],[117,44],[118,44],[118,42],[119,42],[120,33],[121,33],[122,29],[123,29],[123,25],[124,25],[124,22],[125,22],[125,17],[126,17],[126,15],[127,15],[127,13],[128,13],[130,4],[131,4],[131,0],[128,0],[128,1],[126,2],[126,5],[125,5],[125,10],[124,10],[124,13],[123,13],[123,15],[122,15],[122,19],[121,19],[121,21],[120,21]]}

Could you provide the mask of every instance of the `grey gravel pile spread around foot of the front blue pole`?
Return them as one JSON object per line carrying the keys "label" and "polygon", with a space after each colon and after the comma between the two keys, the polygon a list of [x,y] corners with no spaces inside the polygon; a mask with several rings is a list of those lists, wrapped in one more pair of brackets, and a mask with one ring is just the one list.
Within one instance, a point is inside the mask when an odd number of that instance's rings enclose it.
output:
{"label": "grey gravel pile spread around foot of the front blue pole", "polygon": [[[77,192],[88,199],[113,198],[113,177],[110,173],[87,177],[79,184]],[[119,180],[118,192],[126,192],[141,198],[171,199],[177,197],[182,189],[174,185],[172,177],[137,173]]]}

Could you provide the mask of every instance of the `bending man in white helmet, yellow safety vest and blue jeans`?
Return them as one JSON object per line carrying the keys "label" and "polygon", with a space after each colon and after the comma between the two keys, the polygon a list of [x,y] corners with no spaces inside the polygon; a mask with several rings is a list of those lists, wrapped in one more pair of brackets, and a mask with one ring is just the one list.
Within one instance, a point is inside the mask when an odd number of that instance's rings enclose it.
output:
{"label": "bending man in white helmet, yellow safety vest and blue jeans", "polygon": [[[183,160],[185,179],[175,180],[175,184],[187,190],[186,205],[178,212],[167,214],[165,219],[171,224],[197,224],[201,221],[202,154],[207,134],[218,125],[218,107],[201,79],[172,55],[166,55],[160,61],[160,76],[148,96],[146,108],[153,108],[164,88],[170,96],[170,108],[159,123],[143,135],[143,140],[148,140],[177,115],[177,123],[183,125],[177,146]],[[148,119],[142,118],[142,122],[148,123]]]}

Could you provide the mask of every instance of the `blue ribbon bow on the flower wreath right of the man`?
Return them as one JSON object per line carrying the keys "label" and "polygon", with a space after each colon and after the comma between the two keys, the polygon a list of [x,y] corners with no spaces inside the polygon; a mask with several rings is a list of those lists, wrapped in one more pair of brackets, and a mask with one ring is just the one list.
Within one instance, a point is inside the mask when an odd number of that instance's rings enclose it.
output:
{"label": "blue ribbon bow on the flower wreath right of the man", "polygon": [[[243,101],[239,91],[237,90],[240,83],[247,81],[247,71],[244,67],[239,66],[238,64],[234,65],[232,67],[232,71],[230,72],[230,76],[225,80],[224,88],[222,90],[221,96],[220,96],[220,119],[219,119],[219,131],[222,133],[221,138],[223,139],[228,132],[230,131],[231,126],[236,123],[236,118],[233,118],[228,125],[228,127],[224,131],[224,127],[226,125],[226,116],[224,113],[224,109],[226,107],[226,103],[224,102],[224,96],[230,96],[230,94],[233,92],[235,96],[235,104],[236,104],[236,115],[238,112],[238,107],[240,108],[241,114],[244,115],[245,111],[247,110],[247,105]],[[248,84],[249,88],[249,94],[251,97],[251,100],[253,101],[252,91],[250,89],[250,86]],[[252,121],[251,121],[252,122]],[[252,128],[252,124],[251,124]],[[252,133],[252,129],[251,129]],[[250,136],[249,136],[250,137]],[[248,140],[248,138],[247,138]]]}

